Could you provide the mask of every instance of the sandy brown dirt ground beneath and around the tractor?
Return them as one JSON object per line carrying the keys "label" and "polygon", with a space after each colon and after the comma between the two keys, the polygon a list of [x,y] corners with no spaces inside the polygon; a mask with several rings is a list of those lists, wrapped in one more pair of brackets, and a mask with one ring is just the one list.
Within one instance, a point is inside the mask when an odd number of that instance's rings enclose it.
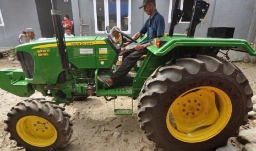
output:
{"label": "sandy brown dirt ground beneath and around the tractor", "polygon": [[[249,80],[256,94],[256,63],[239,63],[240,68]],[[0,60],[0,68],[20,68],[18,63]],[[42,98],[36,92],[31,97]],[[25,150],[17,147],[15,141],[9,140],[9,134],[4,131],[7,113],[18,102],[25,100],[0,89],[0,150]],[[51,100],[51,97],[46,97]],[[64,150],[162,150],[157,149],[141,131],[137,120],[137,101],[133,101],[132,115],[115,115],[114,102],[107,102],[103,97],[89,97],[86,101],[77,101],[66,107],[66,112],[72,115],[73,136]],[[129,108],[132,100],[129,97],[118,97],[116,106]],[[113,133],[120,132],[121,137],[114,138]],[[241,150],[241,144],[232,138],[231,142]]]}

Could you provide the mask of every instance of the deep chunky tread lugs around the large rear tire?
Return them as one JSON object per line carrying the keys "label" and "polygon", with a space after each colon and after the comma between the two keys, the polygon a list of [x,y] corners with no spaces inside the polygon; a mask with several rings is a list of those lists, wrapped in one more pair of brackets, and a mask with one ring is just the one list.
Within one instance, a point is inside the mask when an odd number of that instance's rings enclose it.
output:
{"label": "deep chunky tread lugs around the large rear tire", "polygon": [[[166,150],[170,150],[170,148],[172,148],[172,146],[165,144],[164,141],[159,141],[161,140],[161,136],[157,136],[157,133],[159,132],[157,132],[158,130],[154,131],[153,128],[155,127],[155,129],[157,129],[157,126],[155,125],[157,124],[157,122],[154,120],[154,118],[148,118],[151,116],[150,114],[154,112],[153,108],[154,106],[156,106],[156,104],[149,105],[149,103],[152,103],[152,101],[146,97],[156,97],[159,98],[160,101],[160,97],[170,91],[167,89],[163,89],[161,82],[164,82],[167,86],[172,86],[173,83],[178,83],[180,79],[193,77],[193,75],[197,73],[208,73],[219,76],[224,74],[225,76],[231,77],[230,80],[233,80],[233,82],[242,85],[243,91],[241,92],[243,93],[243,96],[247,97],[247,100],[241,100],[244,104],[243,106],[241,106],[241,108],[243,108],[242,114],[244,115],[244,117],[239,119],[239,123],[237,123],[236,127],[238,127],[239,129],[239,126],[247,123],[247,112],[252,111],[252,101],[250,100],[250,97],[253,96],[253,91],[249,86],[247,78],[236,66],[232,65],[232,63],[228,62],[227,60],[224,60],[217,56],[211,57],[205,55],[197,55],[195,56],[195,58],[182,58],[176,59],[175,61],[172,60],[171,62],[167,62],[165,65],[157,68],[156,71],[150,75],[148,80],[146,80],[146,82],[144,83],[139,95],[138,120],[141,122],[141,130],[147,133],[148,139],[154,141],[156,143],[156,146],[165,148]],[[170,75],[175,75],[176,77],[171,77]],[[155,88],[157,86],[162,89],[151,89],[151,87]],[[238,132],[235,130],[233,133],[230,133],[230,136],[228,137],[237,136]],[[219,142],[219,146],[222,146],[223,144],[226,144],[226,142]],[[191,144],[188,144],[188,146],[191,146]],[[217,146],[218,144],[209,148],[199,150],[213,150]],[[183,150],[182,147],[172,149]]]}

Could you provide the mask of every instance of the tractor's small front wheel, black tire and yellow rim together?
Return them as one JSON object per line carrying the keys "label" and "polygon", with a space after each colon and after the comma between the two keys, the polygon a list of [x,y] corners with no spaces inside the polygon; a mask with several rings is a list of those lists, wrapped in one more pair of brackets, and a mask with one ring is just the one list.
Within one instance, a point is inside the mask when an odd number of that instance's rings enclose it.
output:
{"label": "tractor's small front wheel, black tire and yellow rim together", "polygon": [[59,150],[72,134],[71,117],[52,101],[25,100],[14,106],[4,121],[10,140],[27,150]]}

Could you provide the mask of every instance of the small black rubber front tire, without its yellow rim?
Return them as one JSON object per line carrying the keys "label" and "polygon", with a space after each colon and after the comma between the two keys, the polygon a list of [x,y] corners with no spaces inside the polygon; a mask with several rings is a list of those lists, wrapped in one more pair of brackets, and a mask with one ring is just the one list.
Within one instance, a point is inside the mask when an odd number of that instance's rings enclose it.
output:
{"label": "small black rubber front tire, without its yellow rim", "polygon": [[[71,117],[64,112],[65,108],[57,106],[53,101],[41,99],[24,100],[14,106],[7,114],[6,131],[10,133],[10,140],[15,140],[18,146],[26,150],[60,150],[64,148],[72,136]],[[16,125],[21,118],[37,116],[50,121],[57,131],[57,139],[50,146],[37,147],[25,142],[17,133]]]}

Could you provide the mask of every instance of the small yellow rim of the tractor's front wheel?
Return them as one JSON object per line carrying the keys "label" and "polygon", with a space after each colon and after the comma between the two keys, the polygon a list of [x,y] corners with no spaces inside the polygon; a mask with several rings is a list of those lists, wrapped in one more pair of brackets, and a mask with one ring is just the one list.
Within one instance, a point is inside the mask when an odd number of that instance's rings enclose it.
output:
{"label": "small yellow rim of the tractor's front wheel", "polygon": [[20,138],[32,146],[50,146],[57,139],[55,127],[48,120],[37,116],[21,118],[16,125],[16,130]]}

